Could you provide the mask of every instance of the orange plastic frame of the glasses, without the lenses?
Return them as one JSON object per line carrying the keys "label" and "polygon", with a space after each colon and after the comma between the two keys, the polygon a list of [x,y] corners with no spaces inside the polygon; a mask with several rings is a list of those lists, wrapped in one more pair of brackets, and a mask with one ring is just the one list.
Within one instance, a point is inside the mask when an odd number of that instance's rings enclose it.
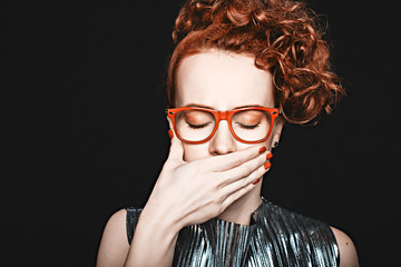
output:
{"label": "orange plastic frame of the glasses, without the lenses", "polygon": [[[206,112],[209,112],[209,113],[213,113],[215,120],[216,120],[216,123],[215,123],[215,127],[212,131],[212,134],[200,140],[200,141],[189,141],[189,140],[185,140],[184,138],[182,138],[179,136],[179,134],[177,132],[177,128],[176,128],[176,121],[175,121],[175,117],[176,115],[179,112],[179,111],[183,111],[183,110],[200,110],[200,111],[206,111]],[[268,129],[268,132],[266,135],[265,138],[263,139],[260,139],[260,140],[255,140],[255,141],[246,141],[244,139],[241,139],[237,135],[235,135],[234,132],[234,129],[232,127],[232,117],[233,115],[235,115],[236,112],[239,112],[239,111],[245,111],[245,110],[263,110],[263,111],[267,111],[270,115],[271,115],[271,118],[272,118],[272,122],[270,125],[270,129]],[[231,134],[235,137],[235,139],[237,139],[238,141],[241,142],[245,142],[245,144],[257,144],[257,142],[263,142],[265,141],[271,132],[272,132],[272,129],[273,129],[273,125],[274,125],[274,120],[275,118],[278,117],[278,115],[282,113],[282,110],[281,109],[277,109],[277,108],[264,108],[264,107],[248,107],[248,108],[241,108],[241,109],[234,109],[234,110],[226,110],[226,111],[222,111],[222,110],[213,110],[213,109],[206,109],[206,108],[193,108],[193,107],[183,107],[183,108],[170,108],[170,109],[166,109],[166,115],[168,118],[172,119],[172,122],[173,122],[173,127],[174,127],[174,131],[176,134],[176,136],[178,137],[179,140],[184,141],[184,142],[187,142],[187,144],[202,144],[202,142],[206,142],[208,140],[211,140],[211,138],[215,135],[216,130],[217,130],[217,127],[218,127],[218,123],[221,120],[226,120],[228,122],[228,128],[229,128],[229,131]]]}

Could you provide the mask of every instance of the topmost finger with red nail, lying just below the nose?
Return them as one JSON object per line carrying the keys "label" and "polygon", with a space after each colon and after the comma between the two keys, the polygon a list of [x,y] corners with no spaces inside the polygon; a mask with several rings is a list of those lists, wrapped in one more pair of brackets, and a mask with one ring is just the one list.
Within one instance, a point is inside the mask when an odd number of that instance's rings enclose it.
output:
{"label": "topmost finger with red nail, lying just below the nose", "polygon": [[256,158],[261,155],[261,152],[264,151],[265,147],[263,146],[252,146],[236,152],[204,158],[202,159],[204,161],[202,164],[205,164],[205,166],[211,166],[214,171],[225,171]]}

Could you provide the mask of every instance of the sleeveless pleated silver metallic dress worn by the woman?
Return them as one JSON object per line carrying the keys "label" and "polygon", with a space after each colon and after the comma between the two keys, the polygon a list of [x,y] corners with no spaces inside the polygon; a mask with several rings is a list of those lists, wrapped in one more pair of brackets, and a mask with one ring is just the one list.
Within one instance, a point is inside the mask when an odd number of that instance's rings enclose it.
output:
{"label": "sleeveless pleated silver metallic dress worn by the woman", "polygon": [[[262,200],[248,226],[214,218],[183,228],[173,266],[340,266],[329,225]],[[129,244],[140,211],[127,208]]]}

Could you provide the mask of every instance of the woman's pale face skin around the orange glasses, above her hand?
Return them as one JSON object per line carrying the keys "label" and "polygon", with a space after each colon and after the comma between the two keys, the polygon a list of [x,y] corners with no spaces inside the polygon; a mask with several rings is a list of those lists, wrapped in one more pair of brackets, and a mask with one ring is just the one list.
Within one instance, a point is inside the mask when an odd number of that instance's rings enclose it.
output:
{"label": "woman's pale face skin around the orange glasses, above her hand", "polygon": [[[257,69],[254,59],[225,51],[207,51],[189,56],[180,62],[177,72],[176,107],[203,107],[232,110],[245,106],[274,108],[272,73]],[[270,138],[258,146],[272,147],[283,126],[277,120]],[[170,125],[172,128],[172,125]],[[255,146],[244,144],[231,134],[227,121],[222,120],[212,139],[204,144],[186,144],[184,160],[192,161],[224,155]]]}

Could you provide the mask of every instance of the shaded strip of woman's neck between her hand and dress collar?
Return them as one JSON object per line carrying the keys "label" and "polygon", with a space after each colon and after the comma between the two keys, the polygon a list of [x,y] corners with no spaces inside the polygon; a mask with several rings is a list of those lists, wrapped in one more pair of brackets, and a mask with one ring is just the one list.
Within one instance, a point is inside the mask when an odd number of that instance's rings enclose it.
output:
{"label": "shaded strip of woman's neck between her hand and dress collar", "polygon": [[217,218],[239,225],[250,225],[251,215],[262,204],[261,189],[262,187],[260,184],[253,190],[229,205],[221,215],[217,216]]}

